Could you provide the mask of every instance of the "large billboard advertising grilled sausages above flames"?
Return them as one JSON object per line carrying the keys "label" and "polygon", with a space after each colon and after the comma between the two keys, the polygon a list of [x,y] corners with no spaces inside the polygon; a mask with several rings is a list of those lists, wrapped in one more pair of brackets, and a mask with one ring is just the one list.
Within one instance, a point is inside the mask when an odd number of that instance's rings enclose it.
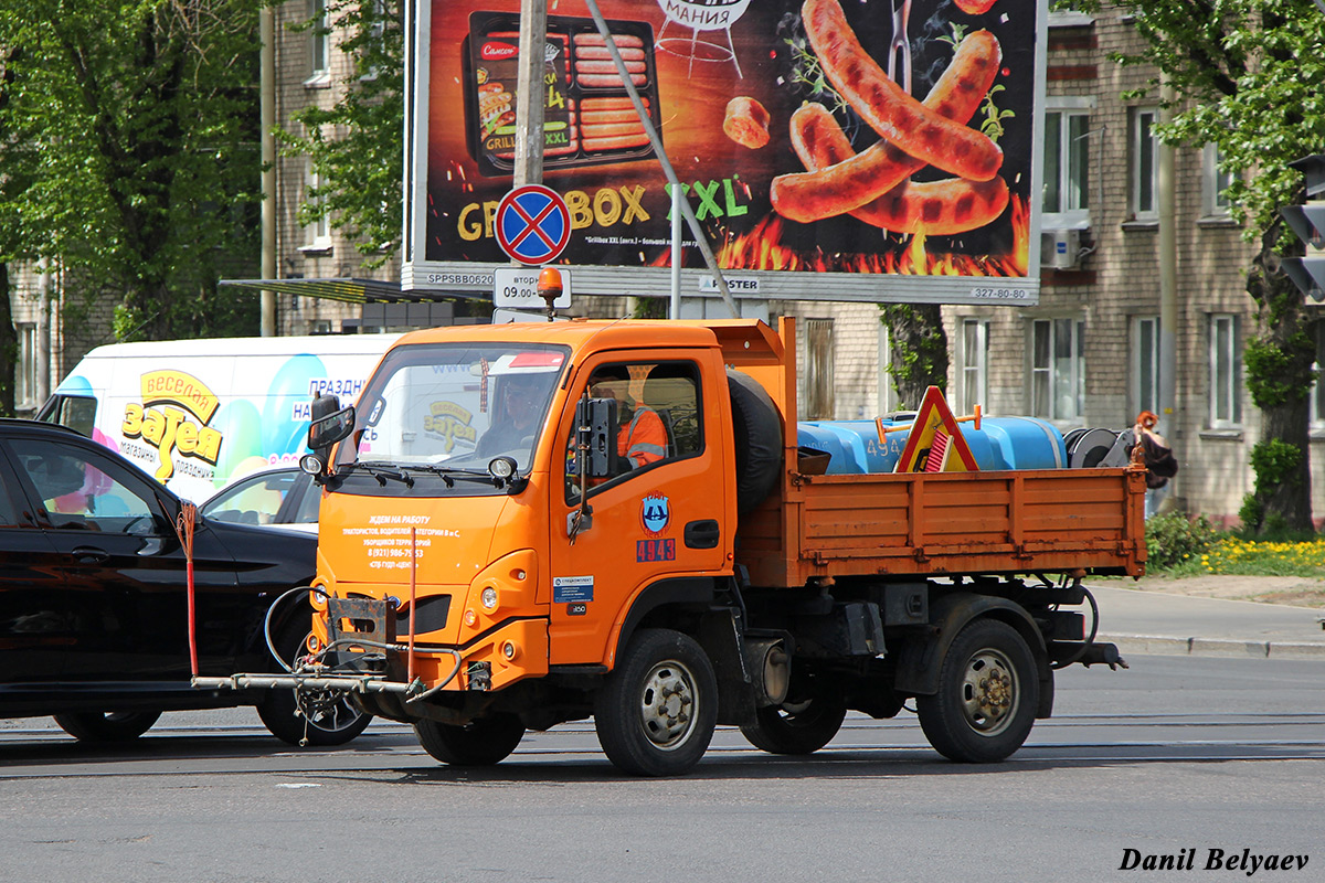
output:
{"label": "large billboard advertising grilled sausages above flames", "polygon": [[[1043,0],[549,0],[543,184],[580,294],[666,294],[662,150],[738,297],[1039,295]],[[415,0],[405,289],[490,291],[519,0]],[[713,293],[685,229],[682,294]]]}

